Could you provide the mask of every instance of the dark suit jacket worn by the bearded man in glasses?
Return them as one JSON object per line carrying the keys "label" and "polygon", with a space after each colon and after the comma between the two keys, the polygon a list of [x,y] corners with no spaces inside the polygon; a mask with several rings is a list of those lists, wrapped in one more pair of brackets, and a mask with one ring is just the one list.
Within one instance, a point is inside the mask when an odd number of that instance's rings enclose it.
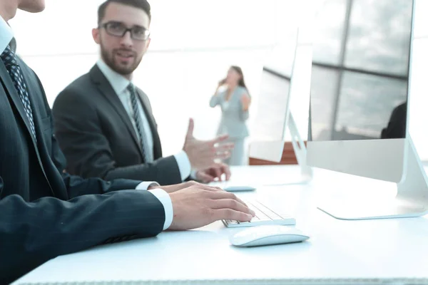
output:
{"label": "dark suit jacket worn by the bearded man in glasses", "polygon": [[105,180],[127,178],[182,182],[175,157],[162,157],[149,100],[138,90],[151,126],[155,161],[145,163],[131,119],[107,78],[94,66],[56,98],[53,108],[56,136],[67,159],[68,172]]}

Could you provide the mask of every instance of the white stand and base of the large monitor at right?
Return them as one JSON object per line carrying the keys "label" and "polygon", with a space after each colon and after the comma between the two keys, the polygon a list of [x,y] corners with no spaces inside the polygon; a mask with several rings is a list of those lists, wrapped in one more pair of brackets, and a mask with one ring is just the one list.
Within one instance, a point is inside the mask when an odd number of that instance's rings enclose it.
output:
{"label": "white stand and base of the large monitor at right", "polygon": [[393,219],[421,217],[428,214],[428,178],[412,138],[406,140],[402,181],[397,183],[397,195],[389,198],[364,197],[361,202],[322,202],[318,209],[337,219]]}

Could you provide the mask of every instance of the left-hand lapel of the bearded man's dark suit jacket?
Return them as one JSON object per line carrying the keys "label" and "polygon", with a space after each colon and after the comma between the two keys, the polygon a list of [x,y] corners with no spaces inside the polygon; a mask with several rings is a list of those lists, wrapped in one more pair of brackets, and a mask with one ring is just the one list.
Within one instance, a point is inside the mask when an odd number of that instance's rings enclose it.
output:
{"label": "left-hand lapel of the bearded man's dark suit jacket", "polygon": [[103,73],[101,73],[98,66],[94,66],[91,69],[90,74],[92,81],[96,83],[98,89],[101,91],[104,97],[106,97],[108,103],[110,103],[113,109],[116,110],[116,113],[118,113],[119,117],[126,125],[128,133],[131,135],[133,142],[136,144],[136,147],[138,148],[141,157],[143,157],[143,150],[141,150],[140,142],[138,141],[136,132],[133,128],[128,113],[126,113],[125,108],[123,108],[121,99],[118,98],[118,95],[113,90],[113,87],[111,87],[110,83],[107,81],[107,78],[103,75]]}

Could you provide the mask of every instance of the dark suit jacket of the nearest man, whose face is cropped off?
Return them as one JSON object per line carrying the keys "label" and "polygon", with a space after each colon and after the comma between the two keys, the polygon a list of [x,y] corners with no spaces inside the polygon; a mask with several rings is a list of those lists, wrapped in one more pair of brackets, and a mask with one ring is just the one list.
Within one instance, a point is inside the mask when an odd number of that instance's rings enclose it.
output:
{"label": "dark suit jacket of the nearest man, whose face is cropped off", "polygon": [[65,159],[44,90],[34,71],[22,61],[20,66],[37,143],[0,61],[0,284],[58,255],[105,242],[153,237],[165,222],[163,206],[154,195],[131,190],[138,181],[83,180],[63,173]]}

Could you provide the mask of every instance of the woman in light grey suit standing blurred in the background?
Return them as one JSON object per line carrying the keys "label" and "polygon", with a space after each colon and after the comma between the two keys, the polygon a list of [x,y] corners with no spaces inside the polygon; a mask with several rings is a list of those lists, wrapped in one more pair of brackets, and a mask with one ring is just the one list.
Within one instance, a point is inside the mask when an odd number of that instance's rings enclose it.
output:
{"label": "woman in light grey suit standing blurred in the background", "polygon": [[[220,87],[225,86],[224,90]],[[248,128],[245,120],[248,119],[251,98],[245,86],[243,71],[238,66],[231,66],[228,76],[218,83],[218,88],[210,100],[210,106],[220,105],[222,116],[218,135],[229,135],[229,141],[235,147],[230,158],[225,160],[228,165],[245,164],[245,138],[248,137]]]}

